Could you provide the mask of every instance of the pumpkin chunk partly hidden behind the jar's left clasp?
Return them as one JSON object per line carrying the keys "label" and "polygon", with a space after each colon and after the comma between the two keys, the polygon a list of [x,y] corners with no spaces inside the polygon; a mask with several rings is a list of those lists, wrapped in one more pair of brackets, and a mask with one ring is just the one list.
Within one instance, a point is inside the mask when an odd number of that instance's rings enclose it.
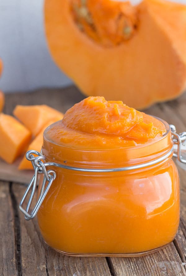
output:
{"label": "pumpkin chunk partly hidden behind the jar's left clasp", "polygon": [[[53,118],[52,120],[48,121],[47,124],[42,128],[42,130],[39,132],[39,134],[33,139],[31,144],[29,145],[28,150],[36,150],[36,151],[41,151],[41,147],[43,144],[43,132],[44,130],[53,124],[54,122],[58,121],[58,118]],[[33,170],[32,163],[28,161],[24,155],[23,159],[21,160],[19,167],[19,170]]]}

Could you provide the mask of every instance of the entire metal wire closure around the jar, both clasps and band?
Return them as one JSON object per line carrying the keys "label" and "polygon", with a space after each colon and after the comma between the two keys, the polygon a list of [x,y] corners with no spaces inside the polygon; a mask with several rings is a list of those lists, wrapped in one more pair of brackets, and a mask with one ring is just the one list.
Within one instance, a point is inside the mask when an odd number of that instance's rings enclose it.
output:
{"label": "entire metal wire closure around the jar, both clasps and band", "polygon": [[[186,163],[186,160],[181,156],[181,145],[186,144],[186,132],[177,134],[176,128],[174,125],[170,125],[170,129],[172,132],[172,140],[173,140],[174,146],[172,147],[172,149],[170,149],[170,151],[168,153],[164,154],[160,158],[157,158],[153,161],[149,161],[149,162],[134,165],[134,166],[128,166],[128,167],[110,168],[110,169],[96,169],[96,168],[89,169],[89,168],[71,167],[71,166],[67,166],[67,165],[63,165],[63,164],[58,164],[55,162],[47,162],[46,163],[45,162],[46,157],[43,156],[41,152],[38,152],[35,150],[29,150],[26,153],[26,158],[32,162],[35,172],[34,172],[34,175],[31,179],[31,181],[23,195],[23,198],[20,201],[20,205],[19,205],[20,210],[24,213],[25,219],[30,220],[36,216],[36,214],[39,210],[39,207],[41,206],[44,198],[47,195],[48,190],[51,187],[52,182],[55,180],[55,177],[56,177],[55,171],[53,171],[53,170],[47,171],[47,169],[46,169],[47,166],[55,166],[55,167],[60,167],[60,168],[64,168],[64,169],[72,170],[72,171],[90,171],[90,172],[128,171],[128,170],[135,170],[135,169],[139,169],[139,168],[149,167],[151,165],[157,164],[157,163],[165,160],[166,158],[168,158],[172,154],[172,152],[173,152],[173,156],[178,158],[178,160],[180,162]],[[34,197],[37,183],[38,183],[38,174],[43,174],[44,178],[43,178],[40,193],[38,195],[38,200],[37,200],[35,206],[33,207],[32,211],[30,211],[31,203],[33,201],[33,197]],[[29,197],[26,209],[24,209],[23,204],[24,204],[24,201],[27,198],[29,192],[30,192],[30,197]]]}

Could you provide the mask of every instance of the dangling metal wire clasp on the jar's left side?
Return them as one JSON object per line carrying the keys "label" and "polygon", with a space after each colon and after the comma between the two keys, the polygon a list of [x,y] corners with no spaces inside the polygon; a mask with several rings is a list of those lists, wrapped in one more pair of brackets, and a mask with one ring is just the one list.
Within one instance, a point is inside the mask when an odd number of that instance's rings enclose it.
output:
{"label": "dangling metal wire clasp on the jar's left side", "polygon": [[[27,160],[32,162],[35,172],[34,172],[34,175],[33,175],[32,179],[23,195],[23,198],[20,201],[19,207],[20,207],[20,210],[24,213],[25,219],[30,220],[36,216],[38,209],[41,206],[48,190],[50,189],[50,186],[51,186],[53,180],[55,180],[56,174],[55,174],[55,171],[52,171],[52,170],[47,171],[46,170],[47,164],[43,162],[45,160],[45,156],[43,156],[40,152],[34,151],[34,150],[29,150],[26,153],[26,158],[27,158]],[[44,174],[44,178],[43,178],[40,194],[38,196],[38,200],[37,200],[35,206],[33,207],[32,211],[30,211],[30,206],[31,206],[33,196],[36,191],[36,187],[37,187],[38,174]],[[48,184],[46,186],[47,182],[48,182]],[[27,203],[26,209],[24,209],[23,204],[24,204],[24,201],[25,201],[30,190],[31,190],[31,194],[29,197],[29,201]]]}

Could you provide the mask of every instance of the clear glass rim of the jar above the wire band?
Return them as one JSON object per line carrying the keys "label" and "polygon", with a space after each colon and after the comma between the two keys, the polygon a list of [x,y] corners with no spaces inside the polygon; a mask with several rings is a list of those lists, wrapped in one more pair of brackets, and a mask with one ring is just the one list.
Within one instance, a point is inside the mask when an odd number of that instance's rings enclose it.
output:
{"label": "clear glass rim of the jar above the wire band", "polygon": [[[152,115],[150,115],[152,116]],[[156,140],[136,146],[112,149],[80,149],[69,145],[60,145],[47,139],[46,133],[54,124],[46,128],[43,133],[42,152],[48,161],[65,163],[71,167],[126,167],[140,163],[151,162],[168,154],[173,147],[169,124],[161,118],[166,127],[166,133]],[[59,122],[59,121],[58,121]],[[119,165],[119,166],[118,166]]]}

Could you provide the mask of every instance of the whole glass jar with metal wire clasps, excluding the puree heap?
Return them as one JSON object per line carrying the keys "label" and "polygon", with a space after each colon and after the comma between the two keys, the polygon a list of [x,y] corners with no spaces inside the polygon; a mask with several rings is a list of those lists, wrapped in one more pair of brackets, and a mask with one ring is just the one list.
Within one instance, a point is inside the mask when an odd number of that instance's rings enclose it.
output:
{"label": "whole glass jar with metal wire clasps, excluding the puree heap", "polygon": [[[179,176],[173,144],[185,162],[179,145],[186,136],[161,122],[166,134],[148,145],[95,151],[57,145],[47,134],[50,127],[45,130],[42,153],[26,154],[35,174],[20,209],[27,220],[37,214],[48,245],[73,256],[140,256],[174,239]],[[38,173],[38,201],[30,211]]]}

